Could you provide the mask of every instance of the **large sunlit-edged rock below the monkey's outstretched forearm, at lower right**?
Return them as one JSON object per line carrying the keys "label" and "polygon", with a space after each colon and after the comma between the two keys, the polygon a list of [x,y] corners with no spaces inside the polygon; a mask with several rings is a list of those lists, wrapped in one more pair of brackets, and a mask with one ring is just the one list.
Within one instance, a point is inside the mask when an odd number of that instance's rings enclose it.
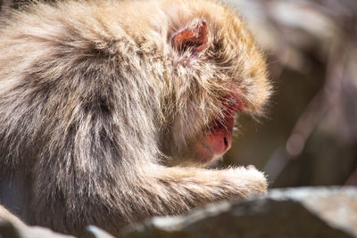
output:
{"label": "large sunlit-edged rock below the monkey's outstretched forearm, at lower right", "polygon": [[120,237],[357,237],[357,188],[272,190],[178,217],[154,217]]}

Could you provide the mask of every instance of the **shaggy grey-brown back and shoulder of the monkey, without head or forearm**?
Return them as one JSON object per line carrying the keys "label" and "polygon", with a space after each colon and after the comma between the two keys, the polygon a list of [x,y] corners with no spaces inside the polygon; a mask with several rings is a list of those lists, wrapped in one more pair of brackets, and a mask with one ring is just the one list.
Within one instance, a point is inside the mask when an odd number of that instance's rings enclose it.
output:
{"label": "shaggy grey-brown back and shoulder of the monkey, without head or forearm", "polygon": [[114,204],[108,191],[128,190],[127,171],[156,160],[158,87],[122,12],[35,4],[0,29],[0,202],[30,224],[95,224],[108,212],[95,202]]}

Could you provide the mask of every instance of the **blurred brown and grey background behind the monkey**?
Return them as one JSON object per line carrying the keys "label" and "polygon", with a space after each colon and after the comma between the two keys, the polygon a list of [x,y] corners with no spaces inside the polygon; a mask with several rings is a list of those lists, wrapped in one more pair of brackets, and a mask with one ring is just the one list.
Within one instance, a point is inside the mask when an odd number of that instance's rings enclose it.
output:
{"label": "blurred brown and grey background behind the monkey", "polygon": [[[1,14],[27,0],[0,0]],[[275,94],[242,117],[225,165],[253,164],[270,187],[357,185],[357,1],[227,0],[266,52]]]}

